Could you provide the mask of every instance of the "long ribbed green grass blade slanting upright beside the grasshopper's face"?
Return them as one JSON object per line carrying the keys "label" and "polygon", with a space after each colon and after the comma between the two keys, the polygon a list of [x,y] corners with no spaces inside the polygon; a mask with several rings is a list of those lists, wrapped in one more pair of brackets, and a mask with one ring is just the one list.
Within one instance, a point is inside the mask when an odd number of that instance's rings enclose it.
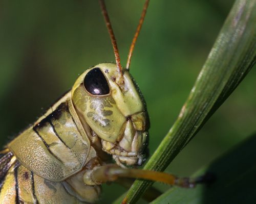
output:
{"label": "long ribbed green grass blade slanting upright beside the grasshopper's face", "polygon": [[[243,80],[255,63],[255,18],[255,1],[234,3],[179,117],[144,169],[163,171]],[[151,184],[135,181],[125,202],[135,203]]]}

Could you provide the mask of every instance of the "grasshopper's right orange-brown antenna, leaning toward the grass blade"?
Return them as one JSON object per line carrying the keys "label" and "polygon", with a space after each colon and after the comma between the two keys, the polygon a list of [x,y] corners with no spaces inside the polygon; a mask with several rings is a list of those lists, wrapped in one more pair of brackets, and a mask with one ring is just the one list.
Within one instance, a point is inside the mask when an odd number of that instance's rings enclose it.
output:
{"label": "grasshopper's right orange-brown antenna, leaning toward the grass blade", "polygon": [[146,0],[146,2],[144,4],[144,7],[143,7],[143,11],[142,11],[141,16],[140,16],[140,21],[139,21],[136,33],[135,33],[135,35],[133,37],[133,41],[132,41],[132,44],[131,44],[131,47],[130,47],[130,50],[129,50],[129,54],[128,54],[128,58],[127,58],[127,63],[126,63],[126,69],[127,70],[129,70],[129,68],[130,68],[131,58],[132,58],[132,55],[133,55],[134,46],[135,46],[136,40],[137,40],[137,38],[139,36],[139,33],[140,33],[140,30],[141,30],[141,27],[142,27],[142,24],[143,24],[145,15],[146,15],[146,10],[147,10],[147,7],[148,7],[149,3],[150,3],[150,0]]}

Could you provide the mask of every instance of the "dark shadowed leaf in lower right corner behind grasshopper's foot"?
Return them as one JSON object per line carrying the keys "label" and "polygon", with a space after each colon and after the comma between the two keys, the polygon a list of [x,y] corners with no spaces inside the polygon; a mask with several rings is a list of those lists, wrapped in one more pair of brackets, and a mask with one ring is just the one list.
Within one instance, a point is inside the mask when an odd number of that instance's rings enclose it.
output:
{"label": "dark shadowed leaf in lower right corner behind grasshopper's foot", "polygon": [[252,203],[255,200],[256,183],[256,134],[240,143],[208,167],[194,176],[213,172],[216,181],[210,185],[199,185],[195,189],[171,188],[152,204],[168,203]]}

